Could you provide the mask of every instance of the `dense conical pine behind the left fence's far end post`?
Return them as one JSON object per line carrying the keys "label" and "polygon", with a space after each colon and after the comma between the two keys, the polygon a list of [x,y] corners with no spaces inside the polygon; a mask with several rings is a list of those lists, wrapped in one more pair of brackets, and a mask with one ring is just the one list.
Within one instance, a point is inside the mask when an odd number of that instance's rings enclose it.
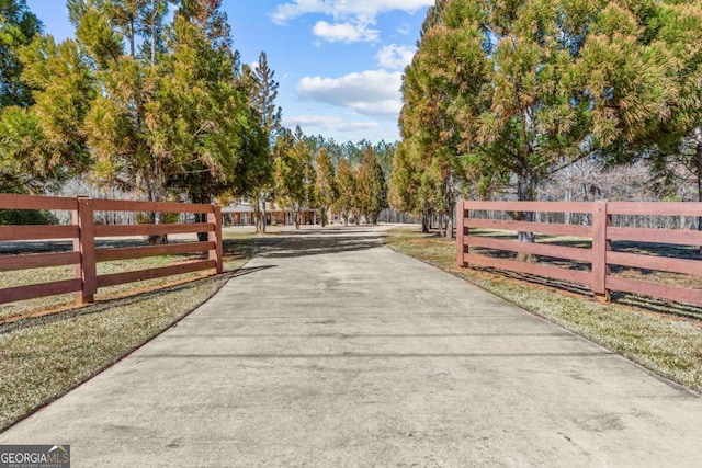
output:
{"label": "dense conical pine behind the left fence's far end post", "polygon": [[246,145],[258,136],[219,4],[192,1],[176,13],[162,59],[166,73],[151,109],[155,150],[172,160],[168,186],[193,203],[244,192],[239,175],[248,164]]}

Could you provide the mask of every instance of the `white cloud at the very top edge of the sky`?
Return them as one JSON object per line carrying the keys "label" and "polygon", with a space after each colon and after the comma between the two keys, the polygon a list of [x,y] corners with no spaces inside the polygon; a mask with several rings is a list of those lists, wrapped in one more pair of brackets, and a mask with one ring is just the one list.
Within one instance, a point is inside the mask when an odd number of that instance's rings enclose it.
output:
{"label": "white cloud at the very top edge of the sky", "polygon": [[378,14],[414,13],[432,4],[434,0],[293,0],[278,5],[271,18],[278,24],[285,24],[305,14],[324,14],[331,16],[333,23],[318,22],[313,30],[318,37],[330,42],[375,42],[380,32],[370,26],[376,24]]}

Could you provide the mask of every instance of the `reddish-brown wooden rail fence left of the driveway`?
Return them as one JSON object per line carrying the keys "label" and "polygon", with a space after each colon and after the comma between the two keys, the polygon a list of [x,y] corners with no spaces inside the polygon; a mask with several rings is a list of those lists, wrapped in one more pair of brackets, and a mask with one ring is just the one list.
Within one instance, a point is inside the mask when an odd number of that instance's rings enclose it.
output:
{"label": "reddish-brown wooden rail fence left of the driveway", "polygon": [[[0,209],[55,209],[72,212],[70,226],[0,226],[0,242],[72,239],[72,252],[0,256],[0,272],[76,265],[76,277],[52,283],[0,289],[0,304],[76,293],[79,304],[92,303],[101,287],[214,269],[223,271],[222,214],[217,205],[128,202],[88,197],[50,197],[0,194]],[[95,225],[94,212],[206,213],[207,222],[163,225]],[[97,238],[207,232],[205,242],[98,249]],[[207,252],[207,260],[159,269],[98,275],[97,263],[146,256]]]}

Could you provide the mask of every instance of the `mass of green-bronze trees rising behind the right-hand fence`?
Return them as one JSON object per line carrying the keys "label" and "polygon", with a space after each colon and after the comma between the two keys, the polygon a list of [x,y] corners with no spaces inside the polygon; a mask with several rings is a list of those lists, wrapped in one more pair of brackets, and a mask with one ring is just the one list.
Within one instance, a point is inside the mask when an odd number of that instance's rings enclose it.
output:
{"label": "mass of green-bronze trees rising behind the right-hand fence", "polygon": [[[461,196],[702,201],[700,44],[698,0],[438,0],[405,70],[392,206],[450,235]],[[613,190],[622,168],[646,191]]]}

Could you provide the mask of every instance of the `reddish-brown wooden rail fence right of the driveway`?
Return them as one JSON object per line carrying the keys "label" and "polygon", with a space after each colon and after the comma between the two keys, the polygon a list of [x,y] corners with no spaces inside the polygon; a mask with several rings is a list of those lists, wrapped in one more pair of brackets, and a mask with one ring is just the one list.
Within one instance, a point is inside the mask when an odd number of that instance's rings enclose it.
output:
{"label": "reddish-brown wooden rail fence right of the driveway", "polygon": [[[591,216],[590,225],[526,222],[471,217],[475,212],[582,213]],[[702,276],[702,261],[660,255],[612,251],[612,241],[650,242],[677,246],[702,246],[702,232],[679,229],[641,229],[612,225],[614,215],[634,216],[702,216],[702,203],[638,203],[638,202],[466,202],[460,201],[457,213],[457,255],[460,266],[483,266],[545,276],[590,287],[601,300],[610,300],[610,292],[652,296],[702,306],[702,289],[650,283],[615,276],[611,265],[647,269],[669,273]],[[591,240],[590,248],[519,242],[471,235],[471,228],[528,231],[553,236],[575,236]],[[520,262],[488,255],[471,247],[545,255],[590,264],[590,270],[569,270],[557,266]]]}

